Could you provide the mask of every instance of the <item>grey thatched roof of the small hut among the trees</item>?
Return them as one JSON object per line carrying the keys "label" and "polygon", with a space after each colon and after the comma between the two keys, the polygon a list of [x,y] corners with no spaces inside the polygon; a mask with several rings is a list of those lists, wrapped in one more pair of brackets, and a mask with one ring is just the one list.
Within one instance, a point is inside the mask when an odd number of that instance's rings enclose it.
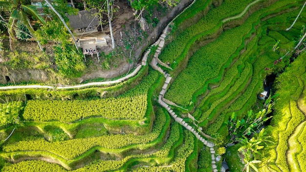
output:
{"label": "grey thatched roof of the small hut among the trees", "polygon": [[70,26],[73,29],[84,28],[87,26],[94,26],[99,24],[99,19],[94,17],[96,12],[96,9],[90,9],[89,11],[83,10],[79,11],[77,15],[66,14],[66,17],[69,19]]}

